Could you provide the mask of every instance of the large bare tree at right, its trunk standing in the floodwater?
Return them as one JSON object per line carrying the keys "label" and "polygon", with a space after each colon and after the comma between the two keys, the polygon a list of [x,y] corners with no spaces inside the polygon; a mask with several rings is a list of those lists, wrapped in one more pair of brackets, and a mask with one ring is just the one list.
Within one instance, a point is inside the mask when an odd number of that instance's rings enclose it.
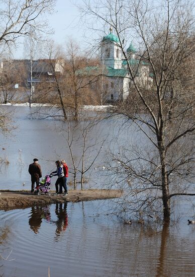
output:
{"label": "large bare tree at right, its trunk standing in the floodwater", "polygon": [[[121,205],[140,215],[162,211],[164,220],[169,220],[172,197],[195,195],[193,6],[182,0],[155,5],[127,0],[84,3],[85,8],[80,9],[90,25],[90,19],[92,27],[95,22],[102,22],[102,28],[111,24],[119,39],[135,106],[129,98],[116,112],[137,126],[144,141],[144,147],[126,146],[123,156],[115,155],[124,170],[117,176],[124,177],[120,182],[125,183],[127,193]],[[137,82],[124,48],[125,38],[137,44],[136,74],[142,62],[147,62],[153,75],[152,86]]]}

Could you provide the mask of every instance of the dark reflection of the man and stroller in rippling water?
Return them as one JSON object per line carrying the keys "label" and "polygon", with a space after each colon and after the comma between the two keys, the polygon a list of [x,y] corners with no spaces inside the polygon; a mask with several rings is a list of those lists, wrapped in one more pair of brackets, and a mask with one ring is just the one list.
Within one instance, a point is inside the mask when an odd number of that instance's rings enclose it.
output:
{"label": "dark reflection of the man and stroller in rippling water", "polygon": [[34,206],[31,208],[31,217],[29,219],[29,225],[31,230],[34,231],[35,234],[39,233],[39,228],[41,227],[42,219],[46,219],[50,221],[51,215],[49,211],[49,207],[40,207]]}

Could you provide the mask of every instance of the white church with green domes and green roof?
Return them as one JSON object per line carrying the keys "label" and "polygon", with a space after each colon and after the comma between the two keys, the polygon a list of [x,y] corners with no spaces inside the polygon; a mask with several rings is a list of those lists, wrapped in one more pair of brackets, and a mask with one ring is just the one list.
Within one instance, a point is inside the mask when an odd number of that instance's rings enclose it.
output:
{"label": "white church with green domes and green roof", "polygon": [[[135,74],[135,81],[145,88],[151,87],[153,79],[149,64],[144,60],[136,59],[136,49],[132,43],[126,53],[128,62],[133,68],[133,74]],[[127,99],[133,83],[127,67],[127,59],[124,58],[119,47],[119,38],[113,34],[112,28],[110,28],[110,33],[102,39],[100,60],[104,75],[109,80],[104,84],[105,100],[112,102]]]}

